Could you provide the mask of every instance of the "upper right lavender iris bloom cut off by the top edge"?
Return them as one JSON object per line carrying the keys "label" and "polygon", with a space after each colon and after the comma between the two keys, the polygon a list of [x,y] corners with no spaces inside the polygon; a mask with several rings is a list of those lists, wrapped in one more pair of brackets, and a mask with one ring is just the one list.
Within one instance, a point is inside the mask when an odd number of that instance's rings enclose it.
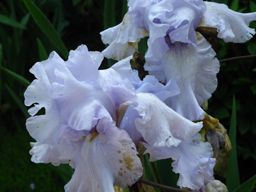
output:
{"label": "upper right lavender iris bloom cut off by the top edge", "polygon": [[217,87],[219,61],[196,28],[216,28],[225,42],[244,43],[255,34],[248,26],[256,12],[238,13],[202,0],[130,0],[128,5],[122,23],[101,32],[103,43],[110,44],[102,53],[124,59],[149,36],[145,70],[163,83],[174,79],[180,88],[166,104],[191,121],[203,119],[200,106]]}

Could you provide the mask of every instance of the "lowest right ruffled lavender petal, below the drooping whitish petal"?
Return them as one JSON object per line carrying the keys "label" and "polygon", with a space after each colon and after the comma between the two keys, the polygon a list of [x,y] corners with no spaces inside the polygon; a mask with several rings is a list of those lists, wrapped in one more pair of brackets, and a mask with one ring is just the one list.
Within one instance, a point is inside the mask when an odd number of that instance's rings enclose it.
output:
{"label": "lowest right ruffled lavender petal, below the drooping whitish petal", "polygon": [[150,154],[149,161],[172,158],[173,171],[179,173],[177,185],[190,189],[200,189],[206,180],[213,177],[215,158],[210,143],[202,142],[201,135],[196,133],[188,141],[182,140],[177,147],[152,147],[144,143]]}

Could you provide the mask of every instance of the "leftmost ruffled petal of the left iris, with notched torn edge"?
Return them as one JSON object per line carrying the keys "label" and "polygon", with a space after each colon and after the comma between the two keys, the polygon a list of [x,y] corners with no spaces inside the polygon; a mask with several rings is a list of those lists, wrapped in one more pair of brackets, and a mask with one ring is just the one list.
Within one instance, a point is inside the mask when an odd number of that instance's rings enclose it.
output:
{"label": "leftmost ruffled petal of the left iris, with notched torn edge", "polygon": [[58,145],[61,134],[66,126],[63,125],[58,104],[52,97],[51,83],[57,81],[54,69],[58,62],[62,62],[59,55],[52,52],[49,59],[37,62],[31,69],[35,79],[25,91],[25,105],[33,103],[35,107],[29,109],[30,115],[35,115],[41,108],[45,108],[45,115],[33,116],[27,119],[27,130],[31,137],[37,140],[37,146],[46,143],[49,147]]}

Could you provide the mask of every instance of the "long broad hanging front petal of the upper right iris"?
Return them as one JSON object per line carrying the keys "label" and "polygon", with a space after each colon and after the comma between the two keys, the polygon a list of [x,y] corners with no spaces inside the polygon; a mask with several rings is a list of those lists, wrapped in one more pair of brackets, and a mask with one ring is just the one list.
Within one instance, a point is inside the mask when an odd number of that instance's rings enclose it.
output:
{"label": "long broad hanging front petal of the upper right iris", "polygon": [[[180,94],[165,102],[191,121],[204,117],[205,113],[200,106],[215,91],[216,74],[219,71],[219,61],[214,58],[216,53],[211,45],[198,33],[197,40],[196,47],[178,42],[170,44],[169,51],[163,57],[146,57],[145,64],[145,70],[159,81],[174,79],[177,82]],[[154,44],[151,46],[154,47]]]}

